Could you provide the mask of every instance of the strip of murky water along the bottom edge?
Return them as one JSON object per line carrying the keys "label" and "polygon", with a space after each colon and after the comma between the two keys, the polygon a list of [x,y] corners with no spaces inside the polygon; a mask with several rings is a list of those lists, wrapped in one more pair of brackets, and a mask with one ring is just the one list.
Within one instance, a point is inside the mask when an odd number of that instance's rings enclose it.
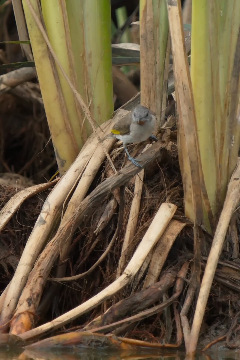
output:
{"label": "strip of murky water along the bottom edge", "polygon": [[0,351],[0,360],[230,360],[240,359],[240,351],[237,350],[209,350],[208,354],[197,354],[195,357],[187,357],[181,351],[142,350],[137,353],[129,351],[104,351],[104,350],[44,350],[39,351]]}

